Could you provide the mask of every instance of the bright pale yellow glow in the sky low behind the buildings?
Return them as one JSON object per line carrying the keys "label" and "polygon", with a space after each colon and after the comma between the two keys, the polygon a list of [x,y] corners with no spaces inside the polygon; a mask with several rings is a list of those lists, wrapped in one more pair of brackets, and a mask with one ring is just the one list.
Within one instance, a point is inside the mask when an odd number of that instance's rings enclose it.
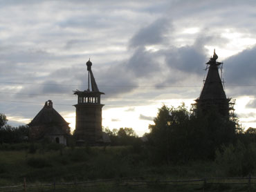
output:
{"label": "bright pale yellow glow in the sky low behind the buildings", "polygon": [[[238,114],[239,124],[245,129],[249,127],[256,128],[256,123],[253,122],[255,117],[239,117],[239,114],[256,113],[253,108],[246,108],[246,104],[253,99],[252,97],[238,97],[235,103],[235,113]],[[148,106],[127,106],[119,108],[108,108],[102,110],[102,126],[108,127],[110,130],[113,128],[133,128],[136,134],[143,136],[144,133],[149,133],[149,124],[154,124],[153,120],[140,119],[140,115],[145,117],[156,117],[158,108],[161,108],[163,104],[168,107],[181,106],[184,102],[185,107],[190,110],[190,105],[194,103],[194,99],[165,99],[158,100],[161,104],[152,104]],[[36,115],[36,114],[35,114]],[[71,133],[75,130],[75,112],[68,113],[64,112],[61,114],[66,122],[70,123]],[[28,124],[32,119],[22,118],[19,116],[7,116],[10,124],[24,125]],[[17,126],[16,125],[16,126]]]}

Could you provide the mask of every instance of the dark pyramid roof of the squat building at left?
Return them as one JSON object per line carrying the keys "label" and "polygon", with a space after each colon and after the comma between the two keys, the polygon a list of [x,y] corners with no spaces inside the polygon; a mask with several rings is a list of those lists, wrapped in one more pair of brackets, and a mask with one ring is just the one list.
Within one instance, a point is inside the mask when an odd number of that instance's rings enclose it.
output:
{"label": "dark pyramid roof of the squat building at left", "polygon": [[65,125],[68,124],[65,119],[55,111],[53,108],[53,102],[48,100],[44,107],[34,117],[34,119],[28,124],[29,126],[40,126],[40,125]]}

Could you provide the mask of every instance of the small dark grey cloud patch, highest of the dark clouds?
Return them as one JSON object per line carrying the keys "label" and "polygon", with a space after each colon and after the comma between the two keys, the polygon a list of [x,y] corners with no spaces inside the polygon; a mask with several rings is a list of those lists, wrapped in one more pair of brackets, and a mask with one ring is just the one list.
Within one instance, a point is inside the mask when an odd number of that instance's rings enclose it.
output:
{"label": "small dark grey cloud patch, highest of the dark clouds", "polygon": [[165,32],[168,27],[168,20],[165,18],[157,19],[154,23],[141,28],[136,35],[134,35],[130,42],[129,46],[136,48],[138,46],[149,46],[155,44],[161,44],[165,40]]}

